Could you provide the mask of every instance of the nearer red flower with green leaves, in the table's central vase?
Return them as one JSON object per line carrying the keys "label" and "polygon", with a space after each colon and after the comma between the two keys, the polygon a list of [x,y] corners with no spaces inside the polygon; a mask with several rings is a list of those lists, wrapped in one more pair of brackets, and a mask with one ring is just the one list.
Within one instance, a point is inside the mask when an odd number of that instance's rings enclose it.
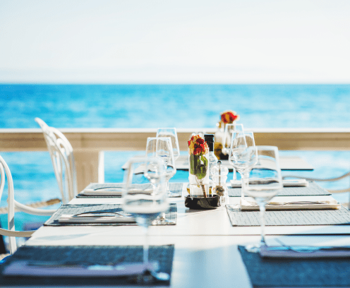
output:
{"label": "nearer red flower with green leaves, in the table's central vase", "polygon": [[207,176],[208,160],[207,153],[209,152],[209,147],[205,140],[199,135],[192,136],[188,140],[188,154],[190,162],[190,174],[195,176],[195,181],[198,187],[202,187],[203,195],[205,193],[205,185],[203,184],[203,179]]}

